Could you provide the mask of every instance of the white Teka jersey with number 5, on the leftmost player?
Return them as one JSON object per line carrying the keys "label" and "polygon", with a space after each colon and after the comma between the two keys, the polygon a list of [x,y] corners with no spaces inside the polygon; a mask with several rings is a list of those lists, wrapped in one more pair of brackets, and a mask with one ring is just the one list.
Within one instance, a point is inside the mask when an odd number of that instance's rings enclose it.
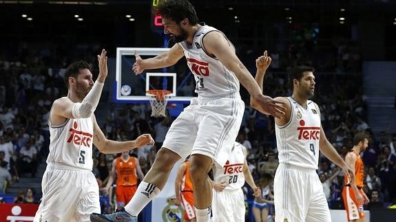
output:
{"label": "white Teka jersey with number 5, on the leftmost player", "polygon": [[[50,124],[50,121],[49,121]],[[50,162],[92,170],[92,117],[68,119],[61,126],[50,124]]]}

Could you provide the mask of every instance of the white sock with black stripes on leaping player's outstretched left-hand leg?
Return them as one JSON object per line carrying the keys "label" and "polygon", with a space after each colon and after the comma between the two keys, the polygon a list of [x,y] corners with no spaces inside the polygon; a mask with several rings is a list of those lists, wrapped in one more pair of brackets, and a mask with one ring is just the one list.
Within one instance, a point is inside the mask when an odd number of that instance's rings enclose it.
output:
{"label": "white sock with black stripes on leaping player's outstretched left-hand leg", "polygon": [[140,211],[145,208],[149,201],[152,201],[156,195],[161,192],[154,184],[148,184],[145,181],[141,181],[138,189],[135,192],[134,197],[124,207],[128,214],[137,217]]}

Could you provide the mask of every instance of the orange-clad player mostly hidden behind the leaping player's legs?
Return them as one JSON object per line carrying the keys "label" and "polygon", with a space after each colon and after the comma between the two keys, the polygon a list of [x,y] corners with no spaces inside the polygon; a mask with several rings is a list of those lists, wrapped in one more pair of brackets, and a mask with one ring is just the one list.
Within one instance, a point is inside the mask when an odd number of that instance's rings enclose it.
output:
{"label": "orange-clad player mostly hidden behind the leaping player's legs", "polygon": [[189,173],[189,156],[183,164],[180,164],[175,181],[176,205],[183,206],[185,209],[185,221],[195,222],[196,214],[194,211],[194,189]]}

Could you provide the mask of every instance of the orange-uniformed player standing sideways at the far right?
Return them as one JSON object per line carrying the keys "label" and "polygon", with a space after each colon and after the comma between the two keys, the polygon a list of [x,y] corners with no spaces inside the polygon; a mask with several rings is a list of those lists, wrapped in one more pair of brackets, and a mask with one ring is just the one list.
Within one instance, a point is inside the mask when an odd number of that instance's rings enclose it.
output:
{"label": "orange-uniformed player standing sideways at the far right", "polygon": [[364,165],[360,153],[364,152],[368,146],[368,135],[356,133],[353,137],[353,148],[345,155],[345,162],[353,169],[355,183],[344,177],[344,189],[342,199],[346,210],[348,221],[364,221],[363,204],[370,200],[364,193]]}

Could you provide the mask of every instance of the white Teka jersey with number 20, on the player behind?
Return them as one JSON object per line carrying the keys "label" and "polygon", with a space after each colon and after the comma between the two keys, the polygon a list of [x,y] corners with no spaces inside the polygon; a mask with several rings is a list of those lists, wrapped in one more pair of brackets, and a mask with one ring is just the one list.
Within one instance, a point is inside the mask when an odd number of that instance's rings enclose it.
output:
{"label": "white Teka jersey with number 20, on the player behind", "polygon": [[227,184],[225,190],[238,190],[244,185],[243,164],[246,159],[246,148],[235,142],[225,166],[221,168],[215,164],[213,170],[213,181]]}

